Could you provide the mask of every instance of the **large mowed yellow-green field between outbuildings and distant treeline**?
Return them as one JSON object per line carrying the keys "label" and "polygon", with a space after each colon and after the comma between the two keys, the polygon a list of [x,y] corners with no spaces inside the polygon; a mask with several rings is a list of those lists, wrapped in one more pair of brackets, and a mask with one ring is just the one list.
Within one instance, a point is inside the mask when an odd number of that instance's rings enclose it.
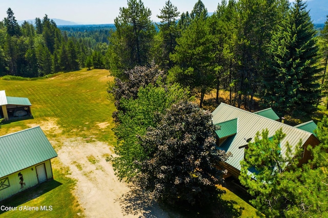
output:
{"label": "large mowed yellow-green field between outbuildings and distant treeline", "polygon": [[[49,79],[31,81],[0,80],[0,90],[7,96],[27,97],[34,119],[12,122],[3,126],[1,135],[10,129],[25,129],[30,123],[56,119],[68,137],[95,138],[115,143],[111,132],[115,106],[107,97],[108,70],[80,70],[59,74]],[[106,123],[100,127],[99,123]],[[16,127],[16,128],[10,128]]]}

